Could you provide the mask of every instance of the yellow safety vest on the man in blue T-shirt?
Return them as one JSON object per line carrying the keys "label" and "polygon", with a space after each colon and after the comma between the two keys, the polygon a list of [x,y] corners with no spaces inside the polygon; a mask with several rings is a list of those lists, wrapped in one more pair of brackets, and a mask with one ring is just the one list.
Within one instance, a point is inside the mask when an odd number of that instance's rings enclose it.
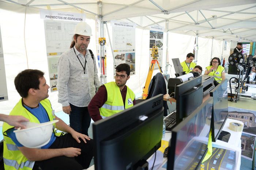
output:
{"label": "yellow safety vest on the man in blue T-shirt", "polygon": [[[45,108],[49,120],[52,121],[55,119],[55,115],[52,114],[52,106],[48,99],[42,100],[40,102],[42,106]],[[40,123],[39,120],[30,113],[25,107],[22,105],[22,99],[16,104],[16,106],[12,109],[10,115],[18,115],[23,116],[29,119],[31,122]],[[12,141],[10,137],[7,136],[6,131],[13,128],[7,123],[3,124],[3,135],[4,135],[4,169],[8,170],[32,170],[34,166],[34,161],[29,161],[25,155],[19,150],[16,144]],[[57,134],[55,131],[55,123],[53,124],[53,132],[56,136]]]}

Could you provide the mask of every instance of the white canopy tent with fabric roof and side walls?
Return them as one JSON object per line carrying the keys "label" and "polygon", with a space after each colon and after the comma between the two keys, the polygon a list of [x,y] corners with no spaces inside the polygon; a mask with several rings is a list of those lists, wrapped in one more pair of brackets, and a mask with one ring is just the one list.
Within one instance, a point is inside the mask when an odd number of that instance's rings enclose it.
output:
{"label": "white canopy tent with fabric roof and side walls", "polygon": [[[184,61],[187,53],[193,51],[197,37],[197,64],[205,68],[211,57],[229,56],[230,41],[256,41],[256,0],[244,0],[243,4],[240,3],[238,0],[0,0],[5,72],[8,96],[11,96],[8,101],[0,103],[0,110],[8,114],[18,101],[19,95],[13,80],[21,70],[43,70],[46,80],[49,80],[44,22],[40,19],[39,9],[86,13],[86,22],[95,28],[90,49],[96,53],[99,49],[98,37],[105,36],[107,39],[105,48],[108,82],[113,80],[113,58],[109,43],[112,37],[110,20],[136,23],[138,72],[131,76],[127,85],[135,93],[140,93],[146,81],[150,60],[149,26],[157,24],[165,28],[163,61],[167,62],[171,58]],[[163,63],[163,70],[173,76],[173,68],[169,67],[168,71],[165,66],[166,62]],[[53,108],[60,111],[57,92],[49,92],[49,95]]]}

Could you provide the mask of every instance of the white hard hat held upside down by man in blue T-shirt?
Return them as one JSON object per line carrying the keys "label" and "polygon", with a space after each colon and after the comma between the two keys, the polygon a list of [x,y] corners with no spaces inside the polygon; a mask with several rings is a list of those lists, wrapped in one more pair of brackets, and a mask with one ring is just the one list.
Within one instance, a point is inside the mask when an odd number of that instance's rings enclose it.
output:
{"label": "white hard hat held upside down by man in blue T-shirt", "polygon": [[58,122],[59,120],[48,121],[45,123],[33,123],[25,122],[26,129],[15,130],[14,133],[20,144],[28,148],[39,148],[45,146],[50,142],[52,132],[53,132],[53,123]]}

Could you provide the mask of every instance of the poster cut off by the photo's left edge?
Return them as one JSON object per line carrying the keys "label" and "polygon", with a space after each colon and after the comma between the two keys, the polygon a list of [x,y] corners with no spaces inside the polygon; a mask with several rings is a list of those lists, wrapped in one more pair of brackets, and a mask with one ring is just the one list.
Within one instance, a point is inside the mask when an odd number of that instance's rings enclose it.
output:
{"label": "poster cut off by the photo's left edge", "polygon": [[0,81],[1,81],[1,83],[0,83],[0,101],[8,100],[1,28],[0,28]]}

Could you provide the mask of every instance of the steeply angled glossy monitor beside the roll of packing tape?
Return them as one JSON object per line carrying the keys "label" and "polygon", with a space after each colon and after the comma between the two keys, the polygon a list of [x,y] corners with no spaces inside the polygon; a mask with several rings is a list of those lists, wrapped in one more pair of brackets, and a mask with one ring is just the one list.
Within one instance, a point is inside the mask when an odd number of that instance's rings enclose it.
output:
{"label": "steeply angled glossy monitor beside the roll of packing tape", "polygon": [[210,91],[210,96],[213,97],[213,119],[211,125],[214,131],[212,131],[212,141],[215,142],[218,139],[228,116],[227,80],[222,81],[212,89]]}

